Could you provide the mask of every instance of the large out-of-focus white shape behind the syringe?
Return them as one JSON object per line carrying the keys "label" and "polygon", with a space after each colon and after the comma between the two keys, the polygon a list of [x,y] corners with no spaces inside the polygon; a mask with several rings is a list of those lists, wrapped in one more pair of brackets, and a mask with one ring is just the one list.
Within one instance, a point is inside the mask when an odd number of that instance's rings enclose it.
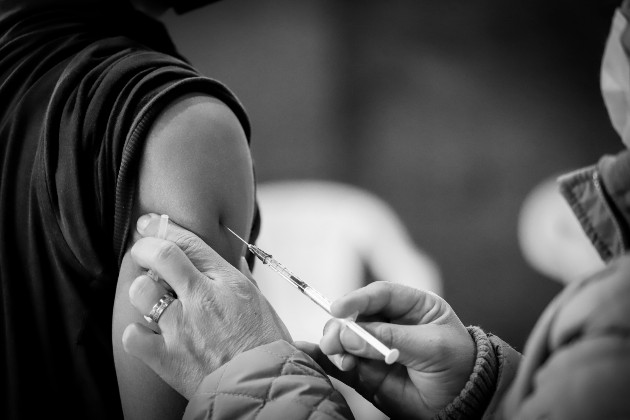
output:
{"label": "large out-of-focus white shape behind the syringe", "polygon": [[[333,181],[286,180],[257,188],[262,223],[257,244],[324,296],[334,299],[371,281],[388,280],[441,293],[437,264],[413,243],[380,197]],[[295,340],[318,341],[330,316],[262,264],[253,275]],[[384,415],[334,382],[355,417]]]}

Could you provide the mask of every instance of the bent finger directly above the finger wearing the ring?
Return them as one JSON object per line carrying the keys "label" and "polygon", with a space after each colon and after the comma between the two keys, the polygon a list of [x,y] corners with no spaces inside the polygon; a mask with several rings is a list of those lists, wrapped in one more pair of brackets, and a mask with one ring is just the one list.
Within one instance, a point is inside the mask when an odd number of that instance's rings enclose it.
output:
{"label": "bent finger directly above the finger wearing the ring", "polygon": [[164,279],[180,299],[186,299],[193,286],[203,276],[184,252],[173,242],[156,238],[142,238],[131,248],[133,260],[146,269],[151,269]]}

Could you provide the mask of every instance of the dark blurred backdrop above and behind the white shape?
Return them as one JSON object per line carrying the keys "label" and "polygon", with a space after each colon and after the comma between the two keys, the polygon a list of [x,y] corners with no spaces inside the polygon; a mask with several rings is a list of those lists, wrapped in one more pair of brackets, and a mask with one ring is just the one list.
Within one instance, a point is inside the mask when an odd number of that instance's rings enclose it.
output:
{"label": "dark blurred backdrop above and behind the white shape", "polygon": [[380,197],[464,324],[522,350],[562,287],[523,257],[524,200],[622,147],[599,93],[615,3],[230,0],[165,21],[244,103],[260,183]]}

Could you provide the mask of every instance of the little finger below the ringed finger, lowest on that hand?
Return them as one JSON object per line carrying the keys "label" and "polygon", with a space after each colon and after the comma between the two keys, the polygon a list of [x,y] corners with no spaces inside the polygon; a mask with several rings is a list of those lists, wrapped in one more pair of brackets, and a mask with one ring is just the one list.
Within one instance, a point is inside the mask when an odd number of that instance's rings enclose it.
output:
{"label": "little finger below the ringed finger, lowest on that hand", "polygon": [[123,348],[129,354],[146,363],[158,374],[161,357],[164,353],[164,338],[144,325],[134,323],[128,325],[123,332]]}

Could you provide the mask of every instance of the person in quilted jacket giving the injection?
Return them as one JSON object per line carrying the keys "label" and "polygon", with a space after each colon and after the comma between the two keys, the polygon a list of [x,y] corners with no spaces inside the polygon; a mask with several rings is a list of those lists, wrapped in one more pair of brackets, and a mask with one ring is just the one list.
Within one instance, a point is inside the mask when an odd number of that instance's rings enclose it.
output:
{"label": "person in quilted jacket giving the injection", "polygon": [[[626,146],[630,145],[630,67],[624,51],[630,48],[629,17],[630,1],[626,0],[615,13],[602,67],[606,105]],[[343,318],[358,312],[366,329],[385,345],[400,350],[397,363],[384,364],[380,354],[337,319],[327,324],[319,348],[296,343],[298,348],[395,418],[630,418],[626,404],[630,386],[630,255],[626,242],[630,235],[630,151],[605,156],[597,165],[561,177],[559,182],[607,266],[571,282],[551,302],[528,338],[523,355],[479,327],[464,327],[439,296],[390,282],[376,282],[350,292],[333,303],[332,313]],[[140,231],[152,236],[155,227]],[[223,288],[220,284],[226,277],[238,283],[249,280],[223,265],[198,238],[186,235],[190,234],[167,237],[183,247],[177,260],[165,260],[164,253],[151,251],[164,246],[150,242],[151,238],[138,242],[138,248],[145,249],[148,256],[138,255],[142,267],[163,267],[166,281],[192,293],[185,301],[176,299],[174,302],[179,303],[174,311],[166,308],[162,318],[170,318],[157,320],[169,326],[163,336],[133,324],[125,333],[125,348],[168,383],[187,390],[189,418],[206,418],[210,413],[219,413],[214,418],[253,417],[256,410],[264,408],[269,393],[256,394],[248,405],[239,405],[235,398],[251,389],[260,372],[267,373],[265,383],[282,380],[285,373],[270,373],[263,358],[258,359],[260,363],[240,363],[242,357],[264,352],[264,345],[240,353],[216,370],[223,361],[212,363],[209,355],[213,352],[207,351],[217,345],[211,334],[204,332],[204,322],[212,316],[214,306],[199,304],[204,301],[203,288],[197,286],[204,278],[199,266],[222,268],[210,276],[216,287]],[[190,251],[191,244],[195,252]],[[186,272],[191,270],[186,256],[191,255],[198,270],[194,275]],[[169,267],[168,273],[164,267]],[[161,286],[154,282],[144,284],[149,287],[132,289],[130,298],[146,313],[155,308],[155,297],[163,290],[156,291],[154,288]],[[136,295],[136,290],[143,292]],[[242,313],[235,308],[232,311]],[[222,319],[229,330],[239,318]],[[296,351],[293,346],[284,347],[275,356],[284,360]],[[317,369],[314,362],[303,360],[305,369]],[[196,375],[186,374],[189,367]],[[191,393],[193,389],[197,391]],[[335,404],[328,399],[332,393],[326,387],[319,391],[318,401]],[[290,418],[290,411],[276,409],[284,413],[283,418]]]}

